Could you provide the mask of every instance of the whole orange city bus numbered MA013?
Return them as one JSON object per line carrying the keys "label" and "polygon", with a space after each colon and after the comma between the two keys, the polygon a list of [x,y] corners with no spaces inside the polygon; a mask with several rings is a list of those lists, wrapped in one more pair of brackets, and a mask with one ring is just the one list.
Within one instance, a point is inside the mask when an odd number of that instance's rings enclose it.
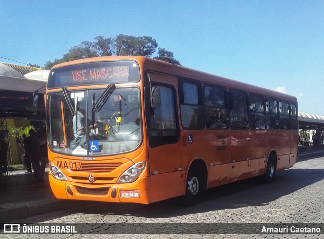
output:
{"label": "whole orange city bus numbered MA013", "polygon": [[142,56],[54,66],[46,90],[57,198],[149,204],[297,161],[297,99]]}

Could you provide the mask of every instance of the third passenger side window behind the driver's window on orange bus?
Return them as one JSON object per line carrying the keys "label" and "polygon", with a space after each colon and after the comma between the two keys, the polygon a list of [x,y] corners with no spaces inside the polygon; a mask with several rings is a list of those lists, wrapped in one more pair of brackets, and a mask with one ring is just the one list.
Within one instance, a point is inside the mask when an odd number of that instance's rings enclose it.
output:
{"label": "third passenger side window behind the driver's window on orange bus", "polygon": [[240,91],[229,92],[230,118],[232,129],[249,129],[247,94]]}

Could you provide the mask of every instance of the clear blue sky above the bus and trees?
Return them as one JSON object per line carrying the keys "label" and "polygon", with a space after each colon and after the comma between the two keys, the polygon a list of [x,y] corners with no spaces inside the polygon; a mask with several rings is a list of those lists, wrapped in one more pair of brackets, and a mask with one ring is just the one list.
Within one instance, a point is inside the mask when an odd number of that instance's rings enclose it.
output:
{"label": "clear blue sky above the bus and trees", "polygon": [[183,66],[324,116],[324,0],[0,0],[0,16],[0,62],[43,67],[99,35],[151,36]]}

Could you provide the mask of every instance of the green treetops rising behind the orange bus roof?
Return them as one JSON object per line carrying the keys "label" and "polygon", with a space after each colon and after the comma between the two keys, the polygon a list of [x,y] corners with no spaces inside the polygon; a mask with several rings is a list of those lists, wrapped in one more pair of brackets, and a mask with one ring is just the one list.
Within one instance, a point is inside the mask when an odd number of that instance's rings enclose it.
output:
{"label": "green treetops rising behind the orange bus roof", "polygon": [[[59,63],[99,56],[146,56],[151,57],[156,51],[157,43],[150,36],[130,36],[119,34],[116,37],[96,36],[95,42],[85,41],[72,47],[61,59],[46,62],[44,68],[51,69]],[[159,57],[169,57],[173,64],[181,65],[174,59],[173,52],[158,48]]]}

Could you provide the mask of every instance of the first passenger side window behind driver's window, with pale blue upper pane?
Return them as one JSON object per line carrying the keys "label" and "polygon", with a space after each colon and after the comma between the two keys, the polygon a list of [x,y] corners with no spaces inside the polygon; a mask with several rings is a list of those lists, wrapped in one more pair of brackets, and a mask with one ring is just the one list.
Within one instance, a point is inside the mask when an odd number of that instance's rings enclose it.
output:
{"label": "first passenger side window behind driver's window, with pale blue upper pane", "polygon": [[181,81],[179,85],[181,124],[184,129],[204,129],[204,108],[201,86]]}

